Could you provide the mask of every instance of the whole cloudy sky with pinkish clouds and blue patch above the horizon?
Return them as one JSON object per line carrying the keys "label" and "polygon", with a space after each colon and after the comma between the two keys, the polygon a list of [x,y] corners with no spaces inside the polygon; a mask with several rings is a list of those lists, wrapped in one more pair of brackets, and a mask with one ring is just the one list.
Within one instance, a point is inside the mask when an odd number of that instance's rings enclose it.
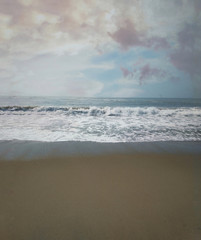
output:
{"label": "whole cloudy sky with pinkish clouds and blue patch above the horizon", "polygon": [[201,97],[200,0],[0,0],[0,95]]}

